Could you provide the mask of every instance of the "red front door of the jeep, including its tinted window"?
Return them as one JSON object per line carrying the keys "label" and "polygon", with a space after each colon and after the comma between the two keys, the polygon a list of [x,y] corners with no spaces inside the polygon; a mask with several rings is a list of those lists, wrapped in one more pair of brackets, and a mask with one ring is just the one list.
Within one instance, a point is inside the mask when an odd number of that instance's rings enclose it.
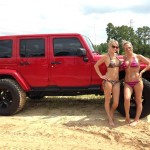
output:
{"label": "red front door of the jeep, including its tinted window", "polygon": [[53,36],[50,41],[52,43],[50,48],[50,84],[64,87],[89,86],[91,63],[84,61],[83,57],[77,56],[77,49],[84,48],[78,37]]}

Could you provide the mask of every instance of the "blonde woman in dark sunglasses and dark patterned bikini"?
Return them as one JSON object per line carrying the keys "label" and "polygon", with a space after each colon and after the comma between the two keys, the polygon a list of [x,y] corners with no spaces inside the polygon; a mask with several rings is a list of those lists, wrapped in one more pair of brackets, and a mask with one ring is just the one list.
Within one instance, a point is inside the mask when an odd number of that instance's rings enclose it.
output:
{"label": "blonde woman in dark sunglasses and dark patterned bikini", "polygon": [[[121,61],[117,57],[119,51],[118,42],[110,40],[108,43],[108,53],[101,56],[101,58],[94,65],[96,73],[103,79],[103,89],[105,96],[105,110],[108,116],[108,121],[111,126],[114,126],[113,116],[119,102],[120,83],[119,83],[119,66]],[[105,63],[107,72],[105,75],[99,70],[99,66]],[[113,104],[110,107],[111,96],[113,96]]]}

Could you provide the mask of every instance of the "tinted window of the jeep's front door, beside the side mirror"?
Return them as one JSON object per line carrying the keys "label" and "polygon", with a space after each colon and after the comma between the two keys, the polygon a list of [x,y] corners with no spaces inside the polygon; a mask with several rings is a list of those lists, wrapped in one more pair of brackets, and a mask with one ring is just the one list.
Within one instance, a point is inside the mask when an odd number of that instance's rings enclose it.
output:
{"label": "tinted window of the jeep's front door, beside the side mirror", "polygon": [[54,56],[76,56],[77,49],[83,48],[78,38],[55,38]]}

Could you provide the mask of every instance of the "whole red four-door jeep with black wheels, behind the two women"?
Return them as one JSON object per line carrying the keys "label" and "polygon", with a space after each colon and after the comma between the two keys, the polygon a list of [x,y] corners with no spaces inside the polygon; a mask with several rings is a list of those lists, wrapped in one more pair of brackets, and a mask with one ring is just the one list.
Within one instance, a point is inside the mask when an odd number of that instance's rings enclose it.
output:
{"label": "whole red four-door jeep with black wheels, behind the two women", "polygon": [[[26,96],[102,94],[102,80],[94,64],[101,57],[81,34],[37,34],[0,37],[0,115],[20,111]],[[121,59],[121,56],[120,56]],[[141,64],[141,68],[144,64]],[[105,65],[101,71],[106,72]],[[120,80],[124,71],[120,71]],[[145,72],[143,111],[150,113],[150,72]],[[123,81],[118,111],[124,115]],[[136,104],[132,95],[131,117]]]}

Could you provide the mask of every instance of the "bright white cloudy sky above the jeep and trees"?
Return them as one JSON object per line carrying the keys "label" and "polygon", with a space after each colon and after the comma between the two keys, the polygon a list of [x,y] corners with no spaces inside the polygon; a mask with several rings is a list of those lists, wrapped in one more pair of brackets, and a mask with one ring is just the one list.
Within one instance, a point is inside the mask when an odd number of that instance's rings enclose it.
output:
{"label": "bright white cloudy sky above the jeep and trees", "polygon": [[150,0],[0,0],[0,35],[77,32],[100,44],[108,23],[150,27]]}

